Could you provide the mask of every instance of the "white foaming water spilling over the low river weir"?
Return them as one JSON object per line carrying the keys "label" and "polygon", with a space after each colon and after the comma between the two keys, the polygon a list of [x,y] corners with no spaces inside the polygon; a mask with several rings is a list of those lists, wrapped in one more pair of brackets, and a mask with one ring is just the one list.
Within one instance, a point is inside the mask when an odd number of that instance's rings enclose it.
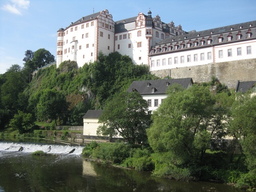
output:
{"label": "white foaming water spilling over the low river weir", "polygon": [[[22,151],[19,151],[20,147],[23,147]],[[81,155],[82,146],[75,145],[57,145],[57,144],[41,144],[41,143],[23,143],[23,142],[0,142],[0,151],[11,152],[28,152],[33,153],[36,151],[43,151],[49,154],[70,154],[72,150],[75,151],[71,154]]]}

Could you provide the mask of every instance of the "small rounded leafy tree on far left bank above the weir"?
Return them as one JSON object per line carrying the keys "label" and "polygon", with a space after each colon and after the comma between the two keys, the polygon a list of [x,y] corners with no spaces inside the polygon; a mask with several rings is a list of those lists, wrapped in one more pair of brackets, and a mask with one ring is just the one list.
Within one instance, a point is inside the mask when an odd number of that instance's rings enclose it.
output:
{"label": "small rounded leafy tree on far left bank above the weir", "polygon": [[34,119],[31,113],[18,111],[10,121],[10,126],[14,130],[18,130],[19,134],[30,131],[34,126]]}

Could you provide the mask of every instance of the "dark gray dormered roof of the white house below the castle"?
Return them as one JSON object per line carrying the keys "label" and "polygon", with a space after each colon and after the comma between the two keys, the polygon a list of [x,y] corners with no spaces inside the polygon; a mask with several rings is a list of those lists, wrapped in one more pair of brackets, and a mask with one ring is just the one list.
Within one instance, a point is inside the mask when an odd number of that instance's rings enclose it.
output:
{"label": "dark gray dormered roof of the white house below the castle", "polygon": [[[165,94],[168,86],[178,83],[187,89],[193,84],[192,78],[133,81],[127,92],[138,91],[141,95]],[[167,86],[168,84],[168,86]],[[152,93],[152,88],[155,92]]]}

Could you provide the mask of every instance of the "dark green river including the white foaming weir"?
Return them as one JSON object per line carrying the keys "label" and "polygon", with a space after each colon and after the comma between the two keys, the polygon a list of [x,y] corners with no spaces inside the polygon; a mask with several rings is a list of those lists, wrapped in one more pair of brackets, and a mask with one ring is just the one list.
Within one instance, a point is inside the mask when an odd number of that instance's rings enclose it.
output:
{"label": "dark green river including the white foaming weir", "polygon": [[[18,151],[23,146],[23,151]],[[33,156],[32,151],[55,155]],[[75,148],[73,153],[69,153]],[[180,182],[152,177],[96,162],[88,162],[80,153],[82,146],[55,143],[0,141],[0,191],[237,191],[232,186],[209,182]]]}

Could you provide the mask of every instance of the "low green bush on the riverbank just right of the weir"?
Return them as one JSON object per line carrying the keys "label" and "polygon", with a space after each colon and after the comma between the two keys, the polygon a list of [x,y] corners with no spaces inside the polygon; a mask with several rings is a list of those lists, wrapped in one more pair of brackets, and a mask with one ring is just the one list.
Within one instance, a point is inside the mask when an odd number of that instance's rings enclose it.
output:
{"label": "low green bush on the riverbank just right of the weir", "polygon": [[124,143],[100,143],[92,153],[93,158],[120,164],[130,155],[130,146]]}

